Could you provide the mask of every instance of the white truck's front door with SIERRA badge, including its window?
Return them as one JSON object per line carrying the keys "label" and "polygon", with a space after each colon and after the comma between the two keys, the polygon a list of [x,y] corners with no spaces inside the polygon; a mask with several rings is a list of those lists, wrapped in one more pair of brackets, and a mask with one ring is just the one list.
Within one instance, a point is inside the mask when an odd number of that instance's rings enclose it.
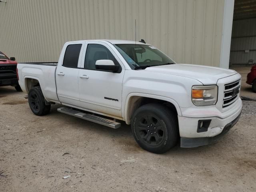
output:
{"label": "white truck's front door with SIERRA badge, including its window", "polygon": [[[80,106],[87,110],[122,117],[122,81],[124,66],[108,44],[88,42],[78,74]],[[118,72],[96,69],[97,60],[112,60]]]}

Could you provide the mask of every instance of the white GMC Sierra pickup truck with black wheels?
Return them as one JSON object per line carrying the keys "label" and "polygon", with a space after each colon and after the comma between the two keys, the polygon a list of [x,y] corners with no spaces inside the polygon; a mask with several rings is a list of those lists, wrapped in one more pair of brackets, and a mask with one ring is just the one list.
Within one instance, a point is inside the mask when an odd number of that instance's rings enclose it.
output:
{"label": "white GMC Sierra pickup truck with black wheels", "polygon": [[38,116],[59,112],[119,128],[131,124],[145,150],[209,144],[238,121],[241,76],[234,70],[176,64],[143,41],[64,44],[58,63],[19,63],[19,84]]}

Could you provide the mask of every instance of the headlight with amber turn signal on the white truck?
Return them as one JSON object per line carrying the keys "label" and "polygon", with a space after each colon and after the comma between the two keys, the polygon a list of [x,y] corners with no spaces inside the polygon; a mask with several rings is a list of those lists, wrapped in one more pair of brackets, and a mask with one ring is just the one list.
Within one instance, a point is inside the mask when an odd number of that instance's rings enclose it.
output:
{"label": "headlight with amber turn signal on the white truck", "polygon": [[214,105],[218,98],[218,86],[192,86],[191,97],[196,106]]}

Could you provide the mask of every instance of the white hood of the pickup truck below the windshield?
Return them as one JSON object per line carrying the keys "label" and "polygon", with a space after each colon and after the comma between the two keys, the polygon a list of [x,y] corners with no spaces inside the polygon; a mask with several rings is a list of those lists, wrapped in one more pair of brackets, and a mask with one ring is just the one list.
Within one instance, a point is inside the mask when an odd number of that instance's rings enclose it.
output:
{"label": "white hood of the pickup truck below the windshield", "polygon": [[237,74],[236,71],[230,69],[192,64],[154,66],[148,67],[145,70],[192,78],[200,81],[202,84],[216,84],[218,79]]}

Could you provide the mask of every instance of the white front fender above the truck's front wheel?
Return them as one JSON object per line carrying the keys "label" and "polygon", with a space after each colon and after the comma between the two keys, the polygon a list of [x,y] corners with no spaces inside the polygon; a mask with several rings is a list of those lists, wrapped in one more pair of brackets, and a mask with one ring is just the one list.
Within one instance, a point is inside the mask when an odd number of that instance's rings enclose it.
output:
{"label": "white front fender above the truck's front wheel", "polygon": [[153,98],[172,103],[182,116],[180,107],[190,107],[191,88],[201,85],[198,80],[146,70],[126,70],[122,90],[122,117],[130,123],[130,98],[133,96]]}

